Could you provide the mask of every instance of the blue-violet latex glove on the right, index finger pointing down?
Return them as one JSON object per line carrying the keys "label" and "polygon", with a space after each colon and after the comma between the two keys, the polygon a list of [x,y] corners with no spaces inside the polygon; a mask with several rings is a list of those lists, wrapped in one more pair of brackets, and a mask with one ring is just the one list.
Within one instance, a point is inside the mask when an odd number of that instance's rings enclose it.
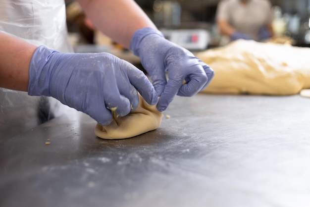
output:
{"label": "blue-violet latex glove on the right, index finger pointing down", "polygon": [[[135,32],[130,49],[139,56],[160,97],[157,109],[163,111],[175,95],[191,97],[204,90],[213,70],[188,50],[166,40],[152,28]],[[165,72],[168,72],[168,81]],[[185,80],[185,84],[183,81]]]}

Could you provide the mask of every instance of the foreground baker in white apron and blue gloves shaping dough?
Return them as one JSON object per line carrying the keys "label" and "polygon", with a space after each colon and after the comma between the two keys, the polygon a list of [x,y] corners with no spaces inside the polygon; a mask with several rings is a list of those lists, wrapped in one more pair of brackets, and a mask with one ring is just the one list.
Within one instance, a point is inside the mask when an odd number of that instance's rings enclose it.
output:
{"label": "foreground baker in white apron and blue gloves shaping dough", "polygon": [[[134,0],[78,2],[96,29],[140,57],[153,85],[141,70],[110,53],[73,53],[66,42],[65,19],[61,20],[63,0],[4,0],[0,5],[0,101],[7,102],[7,107],[20,105],[28,95],[53,97],[104,126],[112,121],[112,111],[125,116],[135,110],[138,92],[163,111],[176,95],[194,96],[210,83],[213,70],[166,40]],[[8,93],[19,95],[10,90],[27,92],[28,97],[7,101]],[[0,105],[5,109],[5,104]],[[4,115],[10,114],[18,120],[14,110]]]}

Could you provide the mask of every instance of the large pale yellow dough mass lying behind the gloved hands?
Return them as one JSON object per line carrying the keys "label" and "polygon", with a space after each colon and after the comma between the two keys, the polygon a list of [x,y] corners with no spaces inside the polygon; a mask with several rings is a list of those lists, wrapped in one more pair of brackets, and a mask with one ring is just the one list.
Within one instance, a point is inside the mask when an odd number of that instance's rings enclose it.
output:
{"label": "large pale yellow dough mass lying behind the gloved hands", "polygon": [[196,54],[215,72],[203,91],[284,96],[310,88],[310,49],[238,40]]}

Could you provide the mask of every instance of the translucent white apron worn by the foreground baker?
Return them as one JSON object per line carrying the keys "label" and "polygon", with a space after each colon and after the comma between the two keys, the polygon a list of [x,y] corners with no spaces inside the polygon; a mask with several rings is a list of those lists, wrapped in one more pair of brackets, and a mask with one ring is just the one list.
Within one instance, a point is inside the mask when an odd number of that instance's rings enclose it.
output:
{"label": "translucent white apron worn by the foreground baker", "polygon": [[[64,0],[0,0],[0,31],[36,46],[73,52]],[[52,97],[0,88],[0,142],[70,110]]]}

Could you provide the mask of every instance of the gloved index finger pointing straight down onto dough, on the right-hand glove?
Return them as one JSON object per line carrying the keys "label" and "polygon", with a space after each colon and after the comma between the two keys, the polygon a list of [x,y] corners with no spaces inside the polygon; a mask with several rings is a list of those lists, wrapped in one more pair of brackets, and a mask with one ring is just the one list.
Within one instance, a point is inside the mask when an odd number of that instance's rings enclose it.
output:
{"label": "gloved index finger pointing straight down onto dough, on the right-hand glove", "polygon": [[164,111],[177,95],[182,79],[169,79],[157,103],[157,110]]}

